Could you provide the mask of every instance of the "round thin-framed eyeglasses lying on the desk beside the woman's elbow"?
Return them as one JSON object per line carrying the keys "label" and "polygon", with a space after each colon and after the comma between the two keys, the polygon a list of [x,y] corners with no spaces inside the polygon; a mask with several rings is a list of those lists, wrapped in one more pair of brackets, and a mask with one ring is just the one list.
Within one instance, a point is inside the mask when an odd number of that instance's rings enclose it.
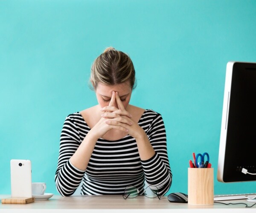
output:
{"label": "round thin-framed eyeglasses lying on the desk beside the woman's elbow", "polygon": [[[135,198],[139,195],[139,190],[137,189],[137,187],[133,186],[133,185],[129,185],[125,188],[124,194],[123,194],[123,198],[127,199],[127,198]],[[160,195],[158,193],[158,188],[156,186],[148,186],[145,188],[144,196],[148,197],[148,198],[155,198],[158,197],[158,199],[160,200]]]}

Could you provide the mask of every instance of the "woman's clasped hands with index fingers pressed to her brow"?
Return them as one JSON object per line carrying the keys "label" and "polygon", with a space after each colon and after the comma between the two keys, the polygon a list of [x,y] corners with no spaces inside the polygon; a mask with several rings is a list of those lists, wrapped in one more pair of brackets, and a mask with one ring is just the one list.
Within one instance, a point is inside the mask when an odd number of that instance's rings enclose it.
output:
{"label": "woman's clasped hands with index fingers pressed to her brow", "polygon": [[[115,107],[115,102],[118,108]],[[111,129],[127,132],[133,138],[145,136],[143,128],[131,119],[131,114],[125,110],[118,92],[112,92],[111,101],[108,106],[103,107],[102,118],[93,127],[97,131],[98,138],[101,138]]]}

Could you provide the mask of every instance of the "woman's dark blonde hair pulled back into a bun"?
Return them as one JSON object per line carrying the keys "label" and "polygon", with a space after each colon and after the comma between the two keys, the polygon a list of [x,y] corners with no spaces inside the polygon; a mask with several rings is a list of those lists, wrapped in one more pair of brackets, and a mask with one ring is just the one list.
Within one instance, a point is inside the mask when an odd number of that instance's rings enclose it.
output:
{"label": "woman's dark blonde hair pulled back into a bun", "polygon": [[94,89],[98,83],[115,85],[124,82],[129,82],[134,89],[135,81],[135,69],[131,58],[122,51],[108,47],[93,62],[90,82]]}

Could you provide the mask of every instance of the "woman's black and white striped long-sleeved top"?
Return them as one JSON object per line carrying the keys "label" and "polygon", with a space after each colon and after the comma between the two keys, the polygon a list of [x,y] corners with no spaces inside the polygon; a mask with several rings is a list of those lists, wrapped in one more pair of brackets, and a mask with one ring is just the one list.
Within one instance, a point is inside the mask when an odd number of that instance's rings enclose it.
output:
{"label": "woman's black and white striped long-sleeved top", "polygon": [[164,195],[172,183],[172,172],[166,148],[166,130],[162,116],[146,109],[138,124],[143,128],[155,150],[148,160],[141,160],[135,138],[126,135],[116,141],[99,138],[86,170],[70,162],[90,127],[79,112],[68,115],[60,138],[55,184],[62,196],[72,195],[82,181],[81,195],[123,194],[134,185],[142,195],[145,180]]}

